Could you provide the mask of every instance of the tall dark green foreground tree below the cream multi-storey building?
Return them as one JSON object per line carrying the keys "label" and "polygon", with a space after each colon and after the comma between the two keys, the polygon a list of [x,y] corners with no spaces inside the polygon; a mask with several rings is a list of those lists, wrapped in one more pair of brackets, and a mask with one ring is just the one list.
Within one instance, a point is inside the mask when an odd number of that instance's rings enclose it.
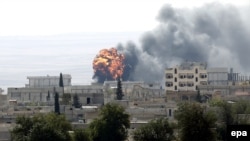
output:
{"label": "tall dark green foreground tree below the cream multi-storey building", "polygon": [[216,140],[216,116],[198,103],[182,103],[175,113],[182,141]]}

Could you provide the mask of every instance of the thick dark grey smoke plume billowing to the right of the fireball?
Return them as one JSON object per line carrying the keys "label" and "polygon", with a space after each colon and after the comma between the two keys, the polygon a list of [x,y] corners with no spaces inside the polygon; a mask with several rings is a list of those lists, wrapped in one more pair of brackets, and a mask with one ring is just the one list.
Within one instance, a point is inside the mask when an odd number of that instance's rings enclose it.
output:
{"label": "thick dark grey smoke plume billowing to the right of the fireball", "polygon": [[242,16],[250,17],[250,11],[241,13],[219,3],[195,9],[165,5],[157,17],[159,26],[144,33],[140,47],[129,43],[117,48],[124,52],[126,63],[132,64],[129,77],[133,80],[161,81],[165,68],[183,61],[249,72],[250,22]]}

